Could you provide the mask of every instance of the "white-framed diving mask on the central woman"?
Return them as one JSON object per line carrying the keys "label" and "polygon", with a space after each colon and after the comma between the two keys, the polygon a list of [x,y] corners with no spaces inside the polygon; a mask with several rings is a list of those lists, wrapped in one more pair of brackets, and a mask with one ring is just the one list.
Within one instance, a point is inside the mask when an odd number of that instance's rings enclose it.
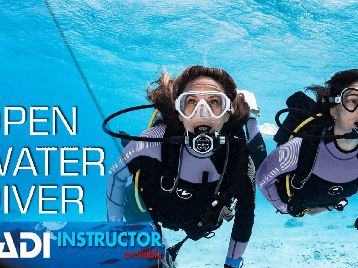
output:
{"label": "white-framed diving mask on the central woman", "polygon": [[188,91],[175,100],[175,109],[185,119],[197,115],[197,118],[221,118],[227,111],[232,111],[231,100],[222,92]]}

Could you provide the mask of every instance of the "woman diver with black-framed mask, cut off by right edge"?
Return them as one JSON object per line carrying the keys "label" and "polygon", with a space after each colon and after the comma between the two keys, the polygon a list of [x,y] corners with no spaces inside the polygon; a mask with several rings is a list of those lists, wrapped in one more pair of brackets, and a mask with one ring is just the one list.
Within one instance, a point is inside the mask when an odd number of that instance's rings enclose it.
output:
{"label": "woman diver with black-framed mask, cut off by right edge", "polygon": [[[303,92],[287,99],[289,108],[301,110],[276,115],[278,148],[256,173],[263,196],[277,212],[292,217],[342,211],[358,190],[358,69],[335,73],[325,86],[307,90],[317,101]],[[289,114],[281,124],[282,111]],[[313,112],[312,117],[292,131],[308,118],[305,111]],[[286,142],[290,135],[298,137]]]}

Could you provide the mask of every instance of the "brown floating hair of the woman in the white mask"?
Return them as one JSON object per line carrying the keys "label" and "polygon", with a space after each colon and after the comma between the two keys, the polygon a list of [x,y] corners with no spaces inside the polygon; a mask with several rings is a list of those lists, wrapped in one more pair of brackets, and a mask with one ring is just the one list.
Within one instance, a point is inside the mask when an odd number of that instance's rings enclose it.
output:
{"label": "brown floating hair of the woman in the white mask", "polygon": [[212,78],[220,84],[232,102],[234,110],[223,126],[224,131],[237,129],[238,124],[248,119],[250,107],[246,103],[244,95],[236,93],[235,80],[226,71],[195,65],[186,68],[174,79],[165,70],[164,73],[158,74],[159,79],[153,81],[147,88],[147,99],[155,104],[162,116],[161,119],[156,120],[155,124],[166,124],[176,130],[184,130],[184,125],[178,117],[179,112],[175,110],[175,100],[183,93],[190,81],[200,76]]}

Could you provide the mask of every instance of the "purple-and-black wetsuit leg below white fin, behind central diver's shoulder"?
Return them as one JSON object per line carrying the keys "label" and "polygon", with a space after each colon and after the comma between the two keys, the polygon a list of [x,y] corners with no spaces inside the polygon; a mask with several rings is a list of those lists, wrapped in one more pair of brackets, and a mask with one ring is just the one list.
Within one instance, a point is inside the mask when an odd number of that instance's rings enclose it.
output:
{"label": "purple-and-black wetsuit leg below white fin, behind central diver's shoulder", "polygon": [[263,160],[267,157],[266,145],[255,118],[249,118],[245,128],[248,147],[254,150],[254,154],[250,154],[250,157],[255,164],[256,170],[258,170]]}

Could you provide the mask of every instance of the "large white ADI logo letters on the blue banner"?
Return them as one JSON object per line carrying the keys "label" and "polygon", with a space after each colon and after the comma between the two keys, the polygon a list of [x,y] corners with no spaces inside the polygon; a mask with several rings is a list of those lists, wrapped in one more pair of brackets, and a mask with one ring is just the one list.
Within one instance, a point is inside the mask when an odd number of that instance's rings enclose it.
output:
{"label": "large white ADI logo letters on the blue banner", "polygon": [[[50,258],[50,233],[42,233],[41,238],[33,232],[20,232],[20,239],[31,239],[35,246],[32,250],[26,251],[26,242],[20,242],[20,256],[16,251],[16,247],[11,237],[10,232],[3,232],[5,242],[0,242],[0,258],[34,258],[36,257],[41,249],[43,258]],[[8,246],[9,251],[4,252],[5,244]]]}

